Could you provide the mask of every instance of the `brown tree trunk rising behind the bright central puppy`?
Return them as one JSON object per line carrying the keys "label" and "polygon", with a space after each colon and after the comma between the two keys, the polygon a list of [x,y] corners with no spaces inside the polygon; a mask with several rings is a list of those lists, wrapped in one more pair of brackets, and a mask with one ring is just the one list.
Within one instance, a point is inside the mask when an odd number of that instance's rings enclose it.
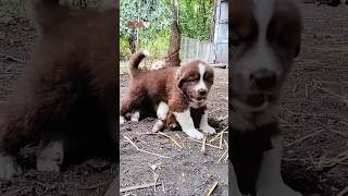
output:
{"label": "brown tree trunk rising behind the bright central puppy", "polygon": [[169,66],[179,66],[181,65],[181,58],[179,58],[179,49],[181,49],[181,41],[182,41],[182,34],[178,26],[178,4],[177,0],[173,0],[173,14],[174,14],[174,22],[172,24],[172,34],[170,40],[170,47],[167,51],[166,64]]}

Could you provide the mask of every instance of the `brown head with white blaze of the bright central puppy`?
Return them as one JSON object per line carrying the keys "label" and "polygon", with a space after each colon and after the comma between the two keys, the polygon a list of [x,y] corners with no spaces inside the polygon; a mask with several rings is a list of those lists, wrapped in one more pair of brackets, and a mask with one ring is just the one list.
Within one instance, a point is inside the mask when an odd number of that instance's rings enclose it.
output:
{"label": "brown head with white blaze of the bright central puppy", "polygon": [[190,61],[176,72],[176,85],[190,103],[204,105],[214,82],[214,71],[203,61]]}

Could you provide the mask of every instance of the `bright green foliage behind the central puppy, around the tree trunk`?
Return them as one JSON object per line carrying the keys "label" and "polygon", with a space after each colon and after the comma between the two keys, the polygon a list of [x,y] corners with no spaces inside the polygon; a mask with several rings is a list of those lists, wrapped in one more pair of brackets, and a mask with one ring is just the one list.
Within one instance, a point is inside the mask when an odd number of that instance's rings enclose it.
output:
{"label": "bright green foliage behind the central puppy, around the tree trunk", "polygon": [[[199,40],[209,40],[214,0],[177,0],[182,35]],[[172,0],[121,0],[120,50],[121,56],[130,54],[128,38],[136,34],[126,27],[127,22],[137,21],[150,25],[139,30],[139,48],[146,48],[154,57],[166,54],[173,21]],[[138,3],[140,4],[138,7]]]}

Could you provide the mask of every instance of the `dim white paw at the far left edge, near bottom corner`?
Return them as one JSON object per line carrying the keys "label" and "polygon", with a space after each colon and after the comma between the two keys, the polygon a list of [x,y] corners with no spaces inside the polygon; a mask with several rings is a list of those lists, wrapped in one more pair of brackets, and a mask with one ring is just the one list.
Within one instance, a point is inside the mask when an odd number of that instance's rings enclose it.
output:
{"label": "dim white paw at the far left edge, near bottom corner", "polygon": [[14,159],[11,156],[0,155],[0,179],[11,180],[14,175],[21,172],[14,164]]}

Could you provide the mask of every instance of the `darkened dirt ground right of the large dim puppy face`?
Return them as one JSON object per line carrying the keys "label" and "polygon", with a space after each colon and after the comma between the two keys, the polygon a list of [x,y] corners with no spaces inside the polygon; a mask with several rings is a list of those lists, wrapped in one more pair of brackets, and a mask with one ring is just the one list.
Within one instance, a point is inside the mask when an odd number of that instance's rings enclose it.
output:
{"label": "darkened dirt ground right of the large dim puppy face", "polygon": [[301,10],[301,53],[282,100],[284,171],[303,193],[333,196],[348,185],[348,7]]}

